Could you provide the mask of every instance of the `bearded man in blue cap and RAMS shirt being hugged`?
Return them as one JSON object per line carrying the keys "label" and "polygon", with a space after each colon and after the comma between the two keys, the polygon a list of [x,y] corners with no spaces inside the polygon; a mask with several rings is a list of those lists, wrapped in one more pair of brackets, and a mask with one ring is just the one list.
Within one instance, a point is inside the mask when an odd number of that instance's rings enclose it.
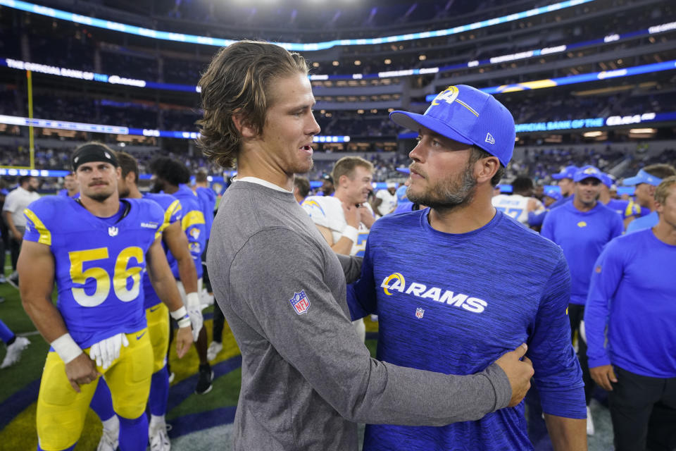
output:
{"label": "bearded man in blue cap and RAMS shirt being hugged", "polygon": [[[375,222],[361,278],[348,290],[353,319],[378,315],[378,359],[442,373],[474,373],[527,342],[554,449],[586,450],[565,257],[491,203],[513,153],[511,113],[494,97],[458,85],[437,95],[424,115],[394,111],[390,118],[418,131],[406,194],[429,208]],[[363,449],[533,445],[521,403],[442,427],[368,424]]]}

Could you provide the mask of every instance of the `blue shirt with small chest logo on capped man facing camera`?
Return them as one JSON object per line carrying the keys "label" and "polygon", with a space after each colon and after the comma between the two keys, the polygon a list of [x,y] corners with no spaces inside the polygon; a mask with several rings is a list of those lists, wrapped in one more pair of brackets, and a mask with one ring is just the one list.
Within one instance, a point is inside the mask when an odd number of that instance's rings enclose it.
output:
{"label": "blue shirt with small chest logo on capped man facing camera", "polygon": [[544,218],[540,234],[563,249],[570,268],[570,303],[584,305],[589,292],[594,261],[614,237],[622,235],[622,218],[596,202],[589,211],[580,211],[572,202],[552,209]]}

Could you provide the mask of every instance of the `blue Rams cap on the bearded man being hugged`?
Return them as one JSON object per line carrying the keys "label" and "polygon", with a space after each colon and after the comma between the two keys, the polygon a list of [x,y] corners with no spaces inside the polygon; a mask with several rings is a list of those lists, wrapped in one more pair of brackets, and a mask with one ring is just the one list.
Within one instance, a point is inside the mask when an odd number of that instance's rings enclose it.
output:
{"label": "blue Rams cap on the bearded man being hugged", "polygon": [[409,130],[420,126],[463,144],[474,144],[507,166],[516,132],[511,113],[492,95],[467,85],[449,86],[432,100],[425,114],[392,111],[389,118]]}

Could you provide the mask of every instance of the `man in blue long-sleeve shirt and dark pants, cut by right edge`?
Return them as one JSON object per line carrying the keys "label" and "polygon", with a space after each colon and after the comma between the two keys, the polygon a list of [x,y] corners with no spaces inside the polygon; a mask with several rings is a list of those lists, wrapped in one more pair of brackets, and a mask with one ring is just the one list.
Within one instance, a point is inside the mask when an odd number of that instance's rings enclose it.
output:
{"label": "man in blue long-sleeve shirt and dark pants, cut by right edge", "polygon": [[618,451],[676,449],[676,177],[655,199],[655,227],[603,249],[584,312],[589,371],[609,390]]}

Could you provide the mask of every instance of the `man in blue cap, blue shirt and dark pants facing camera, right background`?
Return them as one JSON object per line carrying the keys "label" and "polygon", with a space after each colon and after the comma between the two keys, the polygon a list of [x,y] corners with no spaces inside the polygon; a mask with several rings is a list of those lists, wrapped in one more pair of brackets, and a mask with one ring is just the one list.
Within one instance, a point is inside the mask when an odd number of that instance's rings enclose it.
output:
{"label": "man in blue cap, blue shirt and dark pants facing camera, right background", "polygon": [[[601,171],[594,166],[583,166],[575,173],[575,192],[571,202],[552,209],[542,223],[542,236],[549,238],[563,249],[570,268],[570,305],[568,316],[572,335],[580,337],[580,321],[584,316],[589,278],[592,277],[594,261],[603,246],[614,237],[622,235],[622,219],[615,211],[596,199],[601,191]],[[578,357],[584,378],[584,397],[587,401],[587,433],[594,433],[594,422],[589,412],[594,381],[587,368],[587,345],[577,340]]]}

